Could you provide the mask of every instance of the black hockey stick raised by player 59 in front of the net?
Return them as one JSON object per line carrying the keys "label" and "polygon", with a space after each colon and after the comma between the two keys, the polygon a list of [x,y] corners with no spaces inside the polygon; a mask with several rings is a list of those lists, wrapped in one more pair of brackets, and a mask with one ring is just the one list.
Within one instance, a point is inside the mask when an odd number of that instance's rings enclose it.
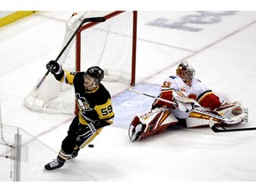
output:
{"label": "black hockey stick raised by player 59 in front of the net", "polygon": [[[61,50],[60,54],[55,59],[55,61],[58,61],[60,59],[60,57],[63,54],[63,52],[65,52],[65,50],[67,49],[68,45],[71,43],[73,38],[76,36],[77,31],[84,25],[84,23],[86,23],[86,22],[104,22],[105,20],[106,19],[104,17],[92,17],[92,18],[85,18],[84,20],[82,20],[82,22],[80,23],[78,28],[76,28],[76,31],[74,32],[74,34],[68,40],[68,43],[63,47],[63,49]],[[39,87],[41,86],[41,84],[43,84],[45,78],[49,75],[49,73],[50,73],[50,71],[47,70],[47,72],[44,74],[44,76],[41,79],[41,81],[36,85],[36,89],[39,89]]]}

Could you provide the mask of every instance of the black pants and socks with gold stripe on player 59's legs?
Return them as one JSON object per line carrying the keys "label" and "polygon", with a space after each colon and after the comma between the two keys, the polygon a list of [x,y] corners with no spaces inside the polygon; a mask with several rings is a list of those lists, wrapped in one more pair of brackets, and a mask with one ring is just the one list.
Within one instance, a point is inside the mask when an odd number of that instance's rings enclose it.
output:
{"label": "black pants and socks with gold stripe on player 59's legs", "polygon": [[71,154],[73,151],[78,151],[80,148],[84,148],[86,145],[88,145],[101,132],[103,128],[97,129],[96,132],[90,132],[91,130],[88,130],[88,133],[85,137],[77,140],[77,132],[80,129],[90,128],[84,124],[80,124],[78,116],[76,116],[69,126],[67,137],[62,140],[61,149],[58,155],[62,159],[70,159],[72,157]]}

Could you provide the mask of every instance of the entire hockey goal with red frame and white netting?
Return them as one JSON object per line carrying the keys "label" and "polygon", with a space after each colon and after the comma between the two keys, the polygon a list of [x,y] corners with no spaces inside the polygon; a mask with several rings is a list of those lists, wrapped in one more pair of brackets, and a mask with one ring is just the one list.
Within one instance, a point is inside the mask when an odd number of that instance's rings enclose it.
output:
{"label": "entire hockey goal with red frame and white netting", "polygon": [[[82,20],[90,17],[105,17],[106,21],[84,24],[58,62],[68,71],[100,66],[105,72],[103,81],[134,85],[137,12],[79,12],[66,23],[62,48]],[[39,112],[72,114],[76,108],[74,88],[49,74],[28,94],[24,105]]]}

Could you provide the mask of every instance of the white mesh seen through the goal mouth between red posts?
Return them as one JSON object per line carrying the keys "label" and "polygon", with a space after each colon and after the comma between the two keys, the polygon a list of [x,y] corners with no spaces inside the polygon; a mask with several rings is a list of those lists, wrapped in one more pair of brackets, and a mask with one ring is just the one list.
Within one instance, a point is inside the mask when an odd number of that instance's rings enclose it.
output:
{"label": "white mesh seen through the goal mouth between red posts", "polygon": [[[105,70],[107,78],[116,76],[131,81],[132,20],[126,19],[128,13],[82,32],[82,67],[98,65]],[[88,52],[92,46],[95,51]]]}

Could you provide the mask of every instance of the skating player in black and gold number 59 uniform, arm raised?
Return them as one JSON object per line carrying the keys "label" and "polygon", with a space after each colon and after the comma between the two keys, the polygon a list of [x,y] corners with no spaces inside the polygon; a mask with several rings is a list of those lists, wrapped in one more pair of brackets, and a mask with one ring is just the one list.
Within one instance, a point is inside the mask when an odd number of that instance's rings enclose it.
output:
{"label": "skating player in black and gold number 59 uniform, arm raised", "polygon": [[65,161],[78,155],[80,148],[89,144],[103,129],[113,124],[114,111],[108,90],[101,84],[104,71],[100,67],[88,68],[86,72],[68,72],[54,60],[46,68],[60,82],[74,85],[78,114],[62,140],[56,159],[45,164],[45,170],[58,169]]}

